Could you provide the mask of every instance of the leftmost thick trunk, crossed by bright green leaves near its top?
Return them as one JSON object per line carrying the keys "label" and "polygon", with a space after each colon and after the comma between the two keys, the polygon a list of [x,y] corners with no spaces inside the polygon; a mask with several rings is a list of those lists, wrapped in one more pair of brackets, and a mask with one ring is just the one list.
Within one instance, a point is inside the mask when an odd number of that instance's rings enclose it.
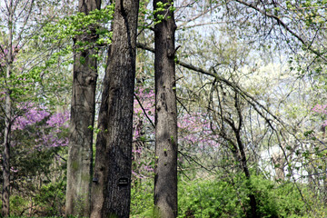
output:
{"label": "leftmost thick trunk, crossed by bright green leaves near its top", "polygon": [[[79,12],[85,15],[100,9],[101,0],[79,0]],[[75,42],[89,42],[97,39],[95,30],[91,34],[78,35]],[[91,181],[93,163],[93,130],[95,112],[95,86],[97,79],[94,49],[85,49],[74,54],[74,79],[71,106],[69,152],[67,164],[66,215],[90,215]]]}

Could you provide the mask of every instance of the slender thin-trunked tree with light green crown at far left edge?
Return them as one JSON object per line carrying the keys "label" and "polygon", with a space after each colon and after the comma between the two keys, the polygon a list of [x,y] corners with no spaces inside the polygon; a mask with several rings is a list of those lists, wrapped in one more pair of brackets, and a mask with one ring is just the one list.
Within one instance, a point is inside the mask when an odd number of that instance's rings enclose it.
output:
{"label": "slender thin-trunked tree with light green crown at far left edge", "polygon": [[5,114],[2,214],[8,216],[11,127],[20,115],[17,114],[18,103],[32,102],[43,93],[40,87],[45,68],[41,65],[48,64],[46,60],[58,44],[41,48],[45,44],[43,40],[38,41],[38,34],[65,5],[57,0],[2,1],[0,7],[0,97],[5,99],[5,104],[0,105]]}

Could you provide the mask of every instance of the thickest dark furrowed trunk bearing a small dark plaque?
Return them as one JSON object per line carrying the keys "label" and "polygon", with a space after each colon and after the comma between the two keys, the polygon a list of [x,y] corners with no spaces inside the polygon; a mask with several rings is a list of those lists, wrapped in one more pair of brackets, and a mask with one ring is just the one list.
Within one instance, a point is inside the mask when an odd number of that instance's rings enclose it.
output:
{"label": "thickest dark furrowed trunk bearing a small dark plaque", "polygon": [[129,217],[139,1],[116,0],[96,140],[91,217]]}

